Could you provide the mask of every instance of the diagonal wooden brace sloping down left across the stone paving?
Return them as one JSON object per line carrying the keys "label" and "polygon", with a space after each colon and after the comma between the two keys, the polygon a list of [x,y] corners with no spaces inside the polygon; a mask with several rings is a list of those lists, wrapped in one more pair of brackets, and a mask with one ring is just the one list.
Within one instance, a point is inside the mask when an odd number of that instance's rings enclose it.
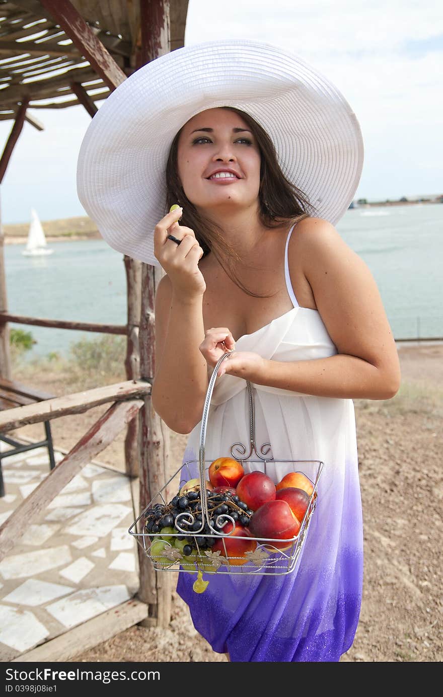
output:
{"label": "diagonal wooden brace sloping down left across the stone paving", "polygon": [[112,443],[142,406],[141,399],[112,404],[43,482],[31,491],[0,526],[0,560],[13,548],[17,539],[22,537],[25,526],[45,510],[66,484],[80,473],[84,465]]}

